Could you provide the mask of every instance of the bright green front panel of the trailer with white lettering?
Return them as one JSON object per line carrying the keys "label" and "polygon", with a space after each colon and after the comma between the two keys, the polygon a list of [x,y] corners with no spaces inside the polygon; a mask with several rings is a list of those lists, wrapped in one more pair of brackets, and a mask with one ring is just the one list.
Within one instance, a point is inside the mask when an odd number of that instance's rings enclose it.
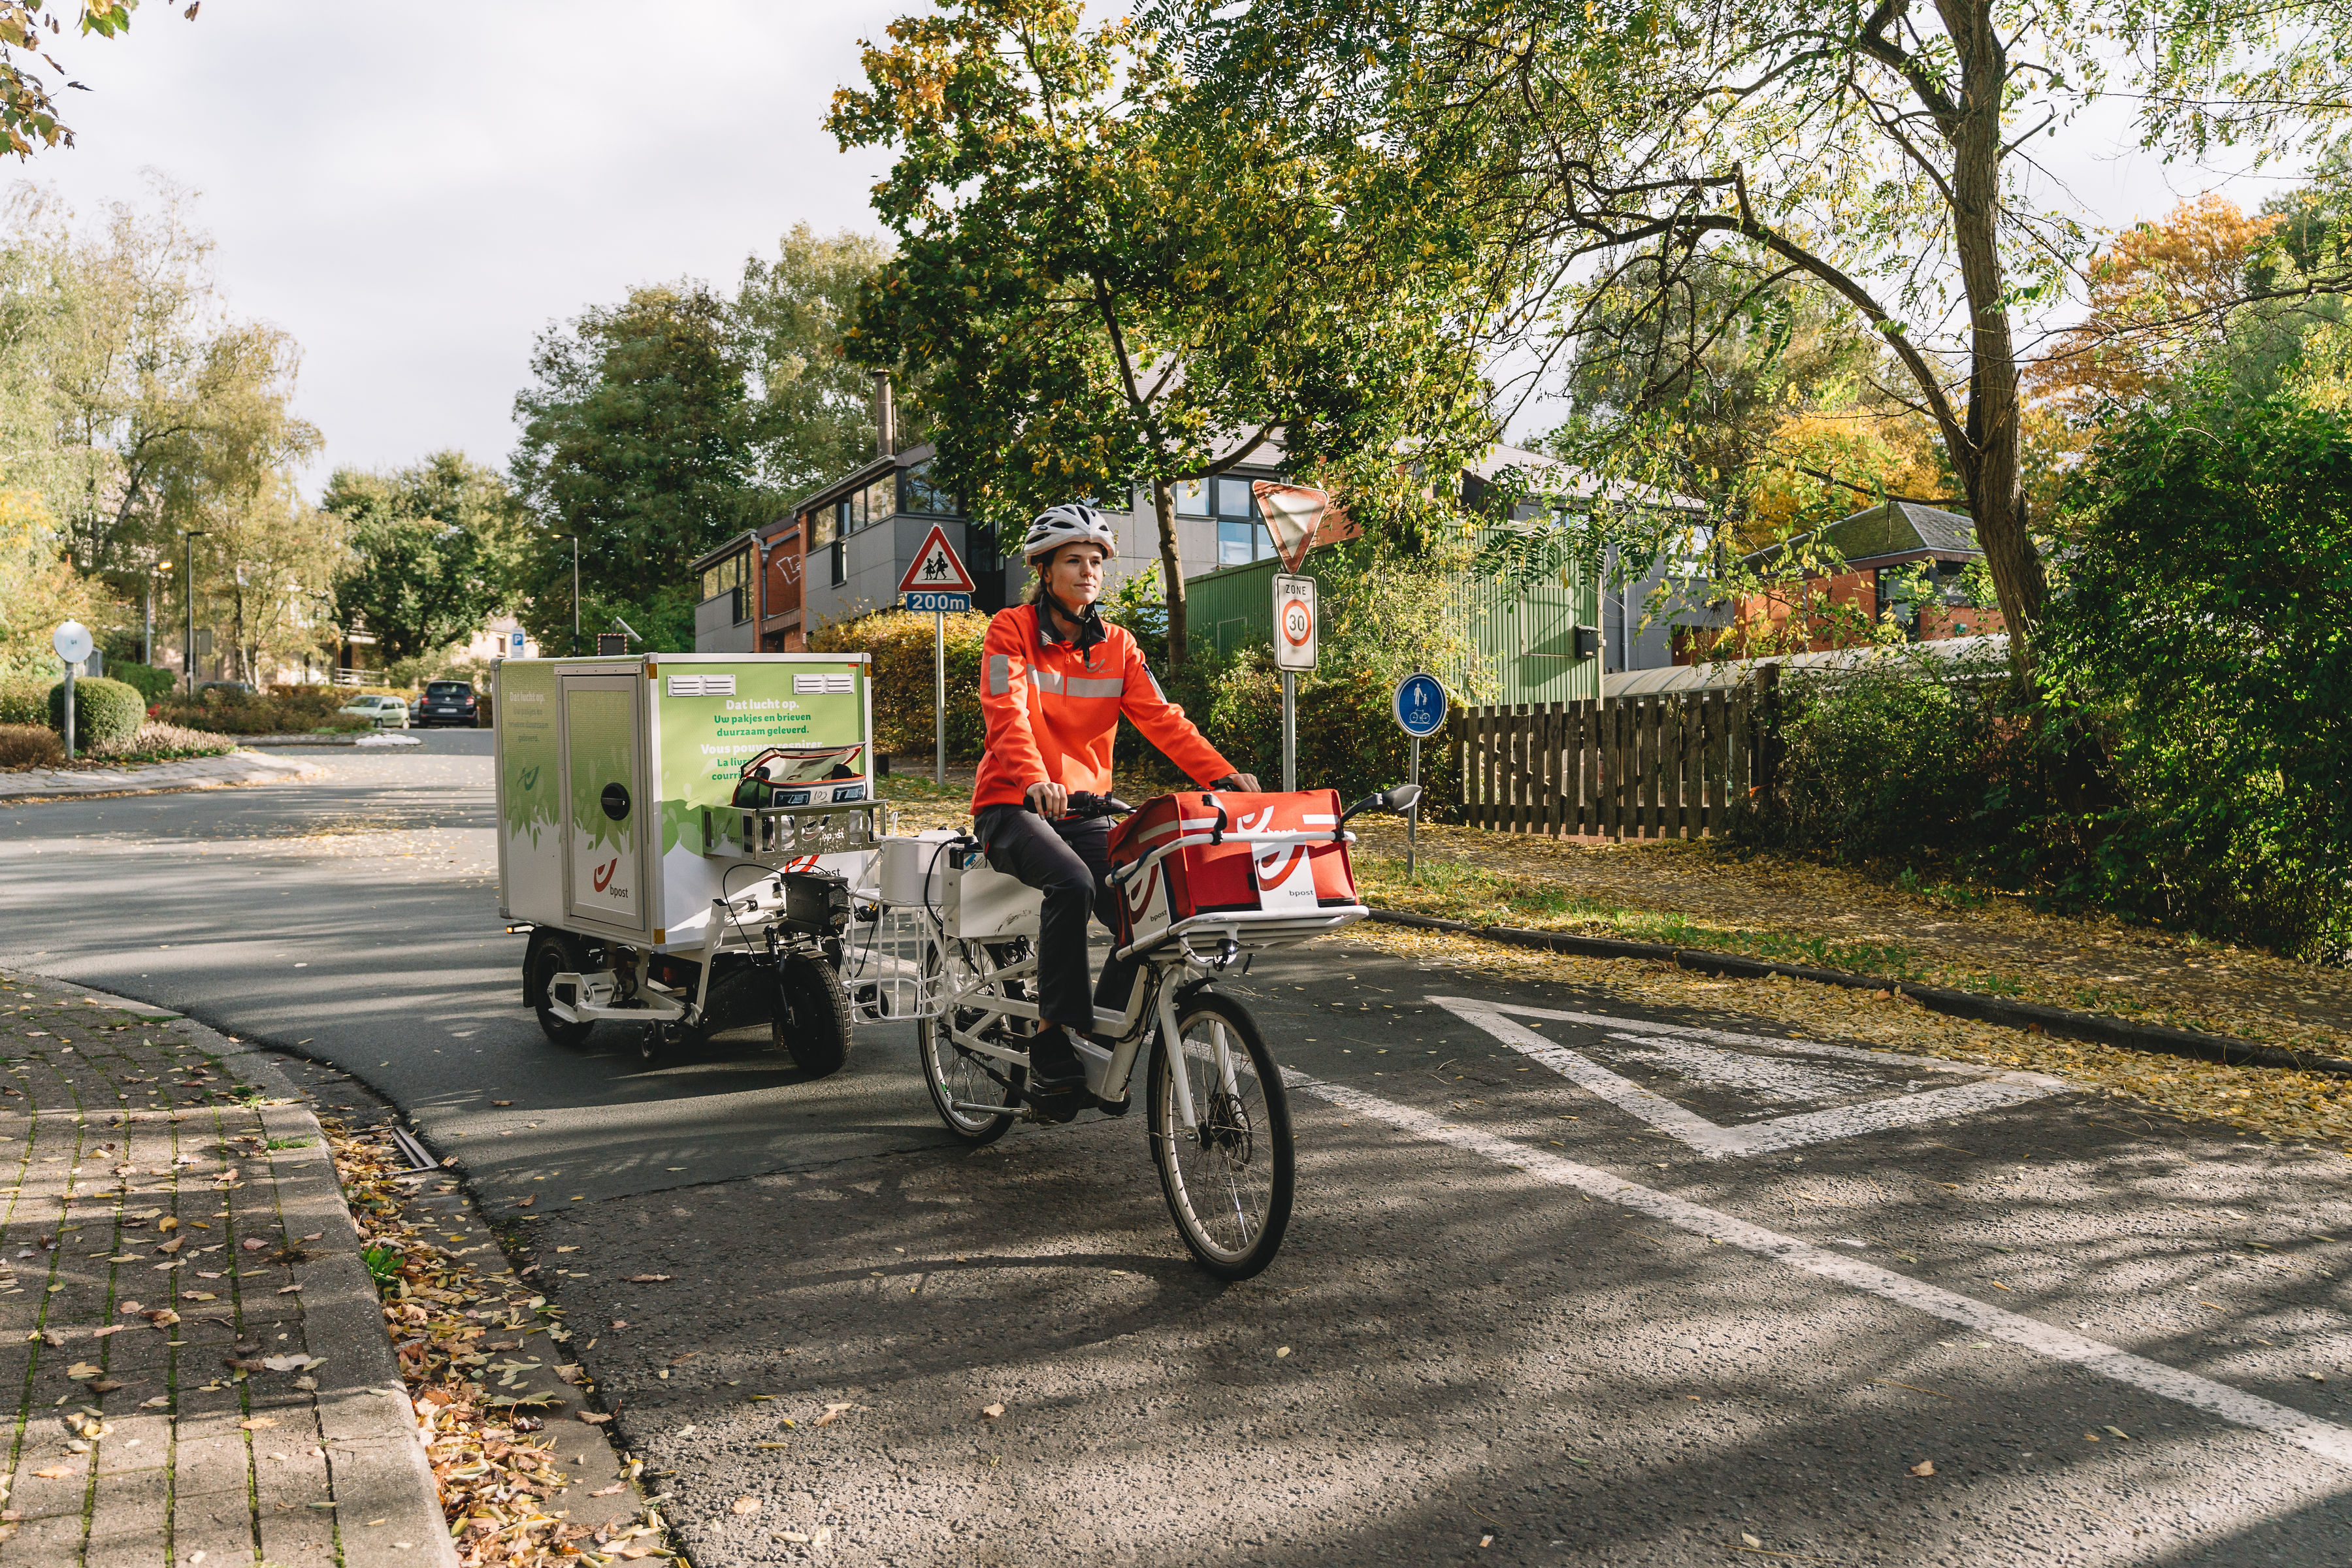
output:
{"label": "bright green front panel of the trailer with white lettering", "polygon": [[771,778],[826,802],[849,780],[873,790],[866,736],[866,665],[663,665],[661,853],[701,844],[706,806],[734,802],[743,764],[786,748]]}

